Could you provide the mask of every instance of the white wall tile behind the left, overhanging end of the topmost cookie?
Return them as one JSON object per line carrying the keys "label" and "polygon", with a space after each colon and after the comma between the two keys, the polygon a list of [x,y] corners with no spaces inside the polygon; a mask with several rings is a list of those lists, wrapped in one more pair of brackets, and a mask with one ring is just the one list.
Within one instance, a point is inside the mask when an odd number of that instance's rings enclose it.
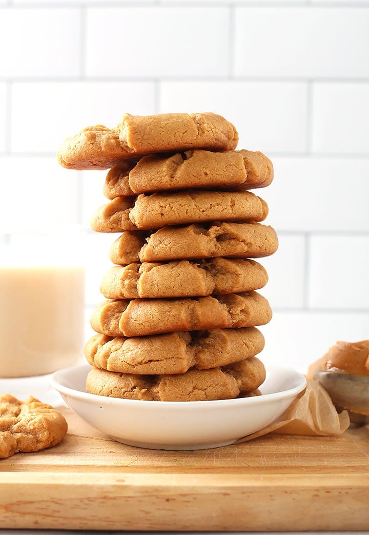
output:
{"label": "white wall tile behind the left, overhanging end of the topmost cookie", "polygon": [[14,83],[11,103],[11,150],[55,154],[60,140],[71,133],[79,132],[91,124],[117,123],[120,103],[133,110],[132,113],[154,113],[154,83]]}

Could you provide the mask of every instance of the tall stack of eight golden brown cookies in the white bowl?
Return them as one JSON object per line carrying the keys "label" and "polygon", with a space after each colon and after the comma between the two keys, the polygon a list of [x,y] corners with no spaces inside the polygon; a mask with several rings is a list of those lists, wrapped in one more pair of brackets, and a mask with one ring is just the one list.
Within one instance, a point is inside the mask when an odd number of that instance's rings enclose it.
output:
{"label": "tall stack of eight golden brown cookies in the white bowl", "polygon": [[69,169],[110,169],[109,199],[91,219],[119,233],[91,317],[87,391],[116,398],[203,401],[255,395],[265,379],[256,328],[272,311],[253,258],[278,247],[268,207],[249,189],[273,179],[261,152],[214,113],[125,114],[88,127],[58,152]]}

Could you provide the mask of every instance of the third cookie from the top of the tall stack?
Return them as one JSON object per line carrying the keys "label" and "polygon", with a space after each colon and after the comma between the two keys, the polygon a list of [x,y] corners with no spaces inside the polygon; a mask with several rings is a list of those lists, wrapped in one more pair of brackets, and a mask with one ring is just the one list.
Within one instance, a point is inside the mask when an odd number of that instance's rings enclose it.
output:
{"label": "third cookie from the top of the tall stack", "polygon": [[252,192],[187,190],[116,197],[94,213],[90,225],[97,232],[122,232],[214,220],[263,221],[267,214],[266,202]]}

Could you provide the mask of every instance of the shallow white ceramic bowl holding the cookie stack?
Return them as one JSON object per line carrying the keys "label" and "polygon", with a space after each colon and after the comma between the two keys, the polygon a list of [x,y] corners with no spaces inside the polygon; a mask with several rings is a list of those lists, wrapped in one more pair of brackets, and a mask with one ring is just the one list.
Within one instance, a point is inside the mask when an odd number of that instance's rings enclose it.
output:
{"label": "shallow white ceramic bowl holding the cookie stack", "polygon": [[150,449],[217,448],[259,431],[285,412],[306,385],[292,369],[267,372],[263,395],[221,401],[136,401],[86,392],[89,365],[53,373],[51,385],[81,418],[114,440]]}

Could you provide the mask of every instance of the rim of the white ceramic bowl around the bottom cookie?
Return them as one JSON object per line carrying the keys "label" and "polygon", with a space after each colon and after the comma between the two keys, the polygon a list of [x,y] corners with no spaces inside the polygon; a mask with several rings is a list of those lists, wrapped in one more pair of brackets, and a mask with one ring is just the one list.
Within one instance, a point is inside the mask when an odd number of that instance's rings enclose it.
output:
{"label": "rim of the white ceramic bowl around the bottom cookie", "polygon": [[[198,410],[199,407],[225,407],[228,404],[230,406],[239,406],[243,404],[264,404],[270,401],[277,401],[279,399],[293,398],[297,394],[301,393],[306,387],[306,377],[303,373],[295,370],[294,368],[285,368],[273,366],[267,368],[267,377],[268,379],[273,373],[290,373],[294,378],[294,381],[297,383],[291,388],[284,390],[279,390],[278,392],[271,392],[269,394],[262,394],[260,396],[251,396],[250,398],[234,398],[234,399],[225,399],[225,400],[209,400],[209,401],[147,401],[147,400],[129,400],[124,398],[113,398],[112,396],[103,396],[99,394],[91,394],[90,392],[82,391],[80,389],[72,388],[70,386],[65,386],[61,383],[61,376],[71,373],[72,371],[78,372],[86,369],[86,376],[88,371],[93,368],[90,364],[79,364],[76,366],[69,366],[68,368],[62,368],[54,373],[50,377],[50,384],[55,388],[60,394],[65,394],[74,399],[79,399],[83,401],[99,402],[104,401],[109,404],[114,404],[115,406],[124,406],[124,407],[145,407],[145,408],[158,408],[160,409],[176,409],[186,408],[190,410]],[[263,383],[264,384],[264,383]],[[263,386],[263,385],[260,385]]]}

